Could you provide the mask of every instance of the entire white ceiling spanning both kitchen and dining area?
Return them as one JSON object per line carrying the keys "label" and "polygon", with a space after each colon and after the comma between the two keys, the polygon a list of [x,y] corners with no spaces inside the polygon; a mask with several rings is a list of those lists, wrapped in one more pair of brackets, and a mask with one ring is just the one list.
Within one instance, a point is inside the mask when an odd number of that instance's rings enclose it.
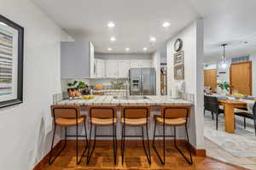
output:
{"label": "entire white ceiling spanning both kitchen and dining area", "polygon": [[[90,40],[96,53],[152,53],[193,20],[204,18],[206,59],[256,54],[255,0],[32,0],[75,40]],[[115,27],[109,29],[108,21]],[[164,21],[171,26],[162,27]],[[156,37],[150,43],[149,37]],[[109,40],[116,37],[115,42]],[[245,43],[247,42],[247,43]]]}

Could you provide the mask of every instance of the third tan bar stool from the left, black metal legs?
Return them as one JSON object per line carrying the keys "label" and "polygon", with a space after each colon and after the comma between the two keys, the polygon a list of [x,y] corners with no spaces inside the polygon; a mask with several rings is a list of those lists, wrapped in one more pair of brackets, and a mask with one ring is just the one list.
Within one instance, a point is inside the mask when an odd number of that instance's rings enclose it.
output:
{"label": "third tan bar stool from the left, black metal legs", "polygon": [[[121,123],[122,123],[122,138],[121,138],[121,154],[122,164],[125,157],[125,137],[142,137],[143,149],[146,153],[148,163],[151,164],[150,146],[148,141],[148,118],[150,116],[150,105],[121,105]],[[142,135],[125,135],[126,126],[142,127]],[[148,151],[144,142],[144,127],[146,127]]]}

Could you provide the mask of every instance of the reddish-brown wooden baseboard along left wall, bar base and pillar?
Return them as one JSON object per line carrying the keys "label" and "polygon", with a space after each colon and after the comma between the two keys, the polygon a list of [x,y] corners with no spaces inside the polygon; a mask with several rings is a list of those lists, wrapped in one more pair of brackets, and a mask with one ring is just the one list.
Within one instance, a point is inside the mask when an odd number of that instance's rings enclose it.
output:
{"label": "reddish-brown wooden baseboard along left wall, bar base and pillar", "polygon": [[[53,148],[53,152],[60,150],[61,149],[61,143],[63,143],[64,140],[61,140],[58,144],[55,145],[55,147]],[[93,142],[93,140],[91,141]],[[109,144],[112,144],[113,140],[112,139],[97,139],[96,140],[96,145],[97,146],[107,146]],[[152,145],[153,140],[150,139],[149,143],[150,145]],[[67,144],[76,144],[76,139],[68,139],[67,140]],[[118,145],[121,144],[121,140],[118,140]],[[140,147],[143,146],[143,143],[141,140],[137,140],[137,139],[125,139],[125,144],[129,145],[129,146],[134,146],[134,147]],[[166,139],[166,144],[174,144],[174,140],[173,139]],[[185,146],[187,145],[187,141],[184,139],[177,139],[177,144]],[[79,139],[79,145],[84,145],[84,140]],[[155,140],[155,145],[156,146],[162,146],[162,140],[157,139]],[[206,150],[196,150],[195,147],[192,144],[189,144],[190,149],[192,150],[192,153],[195,156],[207,156],[207,152]],[[49,153],[44,156],[44,158],[42,158],[41,161],[38,162],[38,164],[33,168],[33,170],[43,170],[44,166],[48,163],[49,160]]]}

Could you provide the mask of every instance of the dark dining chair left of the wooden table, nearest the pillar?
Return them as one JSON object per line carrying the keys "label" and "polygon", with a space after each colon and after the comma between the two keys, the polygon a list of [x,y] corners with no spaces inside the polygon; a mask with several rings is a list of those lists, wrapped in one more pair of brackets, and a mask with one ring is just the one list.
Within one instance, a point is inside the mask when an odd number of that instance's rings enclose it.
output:
{"label": "dark dining chair left of the wooden table, nearest the pillar", "polygon": [[204,114],[206,111],[212,112],[212,120],[213,120],[213,114],[216,114],[216,130],[218,130],[218,115],[224,114],[224,109],[220,109],[220,106],[218,105],[218,99],[217,97],[213,96],[204,96]]}

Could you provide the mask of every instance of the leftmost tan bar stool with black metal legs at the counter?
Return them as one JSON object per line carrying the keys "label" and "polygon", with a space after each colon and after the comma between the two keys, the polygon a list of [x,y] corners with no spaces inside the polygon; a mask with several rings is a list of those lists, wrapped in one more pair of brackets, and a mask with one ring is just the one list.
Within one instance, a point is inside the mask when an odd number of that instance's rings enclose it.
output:
{"label": "leftmost tan bar stool with black metal legs at the counter", "polygon": [[[77,139],[77,164],[79,164],[84,156],[85,151],[87,150],[88,140],[85,127],[86,116],[81,116],[80,106],[79,105],[51,105],[51,113],[54,118],[54,134],[51,143],[51,150],[49,153],[49,164],[52,164],[55,159],[61,154],[61,151],[65,149],[67,145],[67,137],[76,137]],[[84,135],[79,135],[79,124],[84,122]],[[52,159],[52,149],[55,139],[55,130],[56,126],[65,127],[65,144],[57,155]],[[76,126],[76,135],[67,135],[67,127]],[[82,156],[79,159],[79,137],[85,137],[86,146],[82,152]]]}

